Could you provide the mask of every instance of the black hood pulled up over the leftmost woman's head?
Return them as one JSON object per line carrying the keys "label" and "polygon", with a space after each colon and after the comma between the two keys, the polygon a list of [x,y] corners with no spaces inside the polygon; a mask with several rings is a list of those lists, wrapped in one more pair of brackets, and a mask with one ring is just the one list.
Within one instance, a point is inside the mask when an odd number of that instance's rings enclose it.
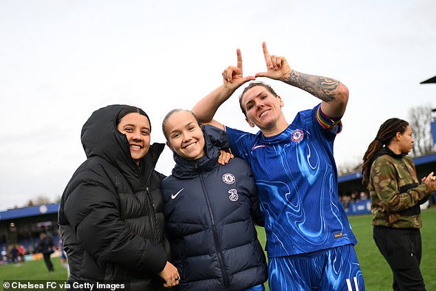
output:
{"label": "black hood pulled up over the leftmost woman's head", "polygon": [[[83,125],[81,141],[87,158],[100,157],[107,160],[128,178],[132,180],[140,178],[138,165],[131,157],[129,141],[124,133],[118,131],[116,120],[124,105],[109,105],[100,108],[91,114],[91,117]],[[149,152],[142,158],[140,165],[142,173],[154,169],[164,144],[154,143],[150,145]],[[143,175],[142,175],[143,176]],[[131,184],[131,186],[133,186]],[[133,188],[137,188],[133,186]]]}

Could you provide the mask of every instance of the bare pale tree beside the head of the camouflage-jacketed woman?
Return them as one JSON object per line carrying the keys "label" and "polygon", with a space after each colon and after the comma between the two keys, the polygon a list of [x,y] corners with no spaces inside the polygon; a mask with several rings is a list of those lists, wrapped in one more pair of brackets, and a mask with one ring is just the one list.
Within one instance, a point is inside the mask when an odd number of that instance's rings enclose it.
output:
{"label": "bare pale tree beside the head of the camouflage-jacketed woman", "polygon": [[408,111],[408,123],[413,130],[415,142],[411,155],[419,157],[435,151],[435,144],[431,135],[430,123],[432,112],[430,105],[412,107]]}

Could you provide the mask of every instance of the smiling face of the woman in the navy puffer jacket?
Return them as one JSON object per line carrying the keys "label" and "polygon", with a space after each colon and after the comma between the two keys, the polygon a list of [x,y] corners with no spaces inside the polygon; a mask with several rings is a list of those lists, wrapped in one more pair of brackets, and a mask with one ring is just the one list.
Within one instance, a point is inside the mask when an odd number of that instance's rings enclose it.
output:
{"label": "smiling face of the woman in the navy puffer jacket", "polygon": [[190,111],[175,111],[166,119],[164,130],[168,147],[186,160],[197,160],[204,155],[204,136]]}

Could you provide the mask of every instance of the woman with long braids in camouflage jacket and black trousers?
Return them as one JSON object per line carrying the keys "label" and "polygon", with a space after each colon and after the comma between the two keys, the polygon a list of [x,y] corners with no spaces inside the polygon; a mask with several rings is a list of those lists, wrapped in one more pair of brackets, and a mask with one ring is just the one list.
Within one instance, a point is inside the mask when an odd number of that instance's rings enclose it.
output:
{"label": "woman with long braids in camouflage jacket and black trousers", "polygon": [[362,183],[368,187],[373,239],[393,272],[393,290],[426,290],[422,257],[420,204],[436,191],[433,172],[417,178],[408,155],[413,132],[399,118],[386,120],[363,156]]}

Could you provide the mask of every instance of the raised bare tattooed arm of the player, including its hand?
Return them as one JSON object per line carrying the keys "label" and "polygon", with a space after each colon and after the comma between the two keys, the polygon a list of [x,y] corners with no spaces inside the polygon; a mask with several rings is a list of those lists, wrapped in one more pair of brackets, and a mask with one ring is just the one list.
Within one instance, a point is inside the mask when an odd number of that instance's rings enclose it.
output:
{"label": "raised bare tattooed arm of the player, including its hand", "polygon": [[329,117],[339,117],[345,112],[348,102],[348,89],[338,80],[321,76],[312,76],[296,72],[287,64],[285,57],[268,53],[265,42],[262,43],[263,56],[268,71],[257,73],[256,77],[268,77],[303,89],[322,100],[321,110]]}

